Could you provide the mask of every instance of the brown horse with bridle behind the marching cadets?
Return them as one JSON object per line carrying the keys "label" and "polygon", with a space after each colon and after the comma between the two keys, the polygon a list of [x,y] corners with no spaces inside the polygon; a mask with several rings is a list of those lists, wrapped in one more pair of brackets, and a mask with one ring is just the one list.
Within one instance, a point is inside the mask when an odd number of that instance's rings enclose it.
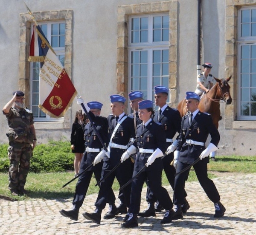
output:
{"label": "brown horse with bridle behind the marching cadets", "polygon": [[[210,89],[210,91],[204,94],[201,98],[201,101],[198,105],[198,109],[201,112],[210,113],[212,116],[212,120],[214,125],[218,128],[218,121],[220,120],[220,105],[221,100],[226,102],[227,105],[230,105],[232,102],[232,98],[230,96],[230,85],[228,82],[231,79],[231,76],[226,79],[218,79],[215,78],[215,85]],[[186,109],[186,100],[183,99],[179,104],[178,108],[180,111],[180,116],[183,117],[187,113]]]}

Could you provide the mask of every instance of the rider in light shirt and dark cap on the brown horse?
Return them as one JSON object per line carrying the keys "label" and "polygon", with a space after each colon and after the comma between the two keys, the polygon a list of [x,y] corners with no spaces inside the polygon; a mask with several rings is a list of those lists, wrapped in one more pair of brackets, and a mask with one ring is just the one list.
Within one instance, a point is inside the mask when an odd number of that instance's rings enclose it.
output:
{"label": "rider in light shirt and dark cap on the brown horse", "polygon": [[210,74],[212,64],[204,63],[202,66],[204,67],[204,69],[201,74],[198,74],[197,86],[195,89],[195,93],[197,93],[198,96],[201,96],[201,94],[204,92],[208,93],[213,85],[213,76],[212,74]]}

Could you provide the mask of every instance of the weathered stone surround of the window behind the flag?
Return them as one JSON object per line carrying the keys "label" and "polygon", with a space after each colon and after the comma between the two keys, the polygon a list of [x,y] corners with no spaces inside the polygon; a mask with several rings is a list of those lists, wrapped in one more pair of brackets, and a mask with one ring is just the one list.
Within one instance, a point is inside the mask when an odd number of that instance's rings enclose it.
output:
{"label": "weathered stone surround of the window behind the flag", "polygon": [[[55,21],[65,20],[65,70],[72,78],[72,23],[73,10],[59,10],[59,11],[38,11],[32,12],[35,20],[41,21]],[[29,13],[20,13],[20,51],[19,51],[19,89],[25,92],[26,105],[29,106],[30,97],[30,62],[29,58],[29,44],[31,40],[31,25],[33,23],[32,17]],[[71,127],[71,111],[67,109],[64,114],[64,121],[61,122],[35,122],[35,128],[38,129],[70,129]]]}

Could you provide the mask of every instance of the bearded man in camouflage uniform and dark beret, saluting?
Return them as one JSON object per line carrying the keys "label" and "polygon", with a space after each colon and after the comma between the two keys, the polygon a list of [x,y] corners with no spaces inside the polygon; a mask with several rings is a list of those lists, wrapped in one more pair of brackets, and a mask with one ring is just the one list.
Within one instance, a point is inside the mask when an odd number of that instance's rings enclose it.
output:
{"label": "bearded man in camouflage uniform and dark beret, saluting", "polygon": [[9,190],[13,196],[17,196],[26,193],[24,186],[36,136],[32,111],[24,105],[25,94],[22,91],[12,94],[12,99],[3,107],[3,114],[9,125],[6,133],[9,139]]}

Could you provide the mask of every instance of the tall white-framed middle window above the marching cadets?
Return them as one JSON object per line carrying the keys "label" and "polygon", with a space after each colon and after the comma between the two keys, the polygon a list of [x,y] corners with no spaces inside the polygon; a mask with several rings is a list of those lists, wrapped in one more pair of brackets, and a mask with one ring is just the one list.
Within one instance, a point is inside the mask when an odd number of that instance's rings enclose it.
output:
{"label": "tall white-framed middle window above the marching cadets", "polygon": [[128,51],[128,90],[154,100],[154,86],[169,88],[169,14],[131,16]]}

